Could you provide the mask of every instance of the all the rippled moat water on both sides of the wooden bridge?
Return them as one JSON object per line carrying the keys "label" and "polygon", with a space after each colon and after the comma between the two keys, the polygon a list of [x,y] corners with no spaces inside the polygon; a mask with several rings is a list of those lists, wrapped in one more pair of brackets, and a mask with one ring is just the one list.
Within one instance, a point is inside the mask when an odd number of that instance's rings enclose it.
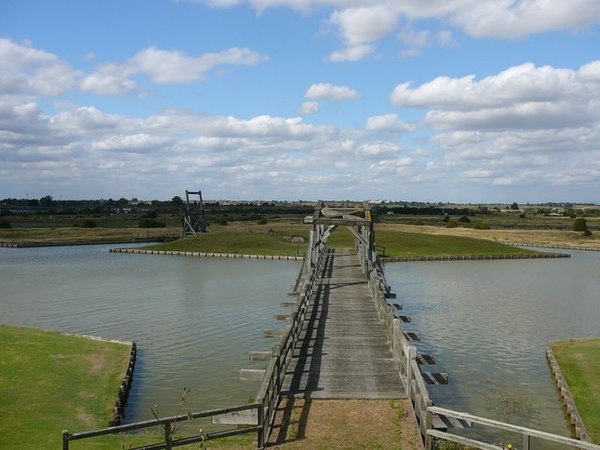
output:
{"label": "all the rippled moat water on both sides of the wooden bridge", "polygon": [[[110,246],[0,248],[0,321],[139,347],[127,421],[245,403],[262,331],[282,324],[300,263],[109,253]],[[600,252],[569,259],[393,263],[388,281],[437,355],[439,406],[568,435],[545,360],[552,340],[600,336]],[[508,399],[508,400],[507,400]],[[499,407],[508,401],[513,407]]]}

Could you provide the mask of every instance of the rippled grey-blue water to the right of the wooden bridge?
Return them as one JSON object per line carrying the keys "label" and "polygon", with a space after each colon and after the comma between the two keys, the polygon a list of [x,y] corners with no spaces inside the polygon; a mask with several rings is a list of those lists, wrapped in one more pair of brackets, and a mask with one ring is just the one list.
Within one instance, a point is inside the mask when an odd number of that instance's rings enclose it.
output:
{"label": "rippled grey-blue water to the right of the wooden bridge", "polygon": [[[545,359],[552,340],[600,336],[600,252],[569,259],[388,264],[388,281],[421,332],[417,347],[446,371],[431,389],[443,407],[568,435]],[[539,448],[539,447],[538,447]],[[542,447],[545,448],[545,447]]]}

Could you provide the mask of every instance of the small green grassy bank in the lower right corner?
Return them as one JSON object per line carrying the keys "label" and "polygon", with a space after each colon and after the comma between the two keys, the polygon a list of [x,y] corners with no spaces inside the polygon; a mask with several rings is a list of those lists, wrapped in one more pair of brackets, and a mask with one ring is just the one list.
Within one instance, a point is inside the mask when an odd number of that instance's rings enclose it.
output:
{"label": "small green grassy bank in the lower right corner", "polygon": [[600,339],[555,342],[552,350],[588,433],[600,444]]}

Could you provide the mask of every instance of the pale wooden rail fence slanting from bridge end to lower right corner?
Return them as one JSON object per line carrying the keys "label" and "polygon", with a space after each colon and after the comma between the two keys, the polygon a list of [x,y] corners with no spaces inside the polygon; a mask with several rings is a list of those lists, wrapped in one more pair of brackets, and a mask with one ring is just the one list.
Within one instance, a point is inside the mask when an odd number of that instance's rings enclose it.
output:
{"label": "pale wooden rail fence slanting from bridge end to lower right corner", "polygon": [[[513,425],[509,423],[503,423],[492,419],[486,419],[485,417],[475,416],[473,414],[452,411],[446,408],[440,408],[437,406],[431,406],[427,408],[428,414],[438,414],[446,417],[454,417],[456,419],[467,420],[472,423],[477,423],[479,425],[484,425],[496,430],[509,431],[513,433],[517,433],[522,435],[523,437],[523,449],[528,450],[531,449],[531,438],[538,438],[548,442],[554,442],[557,444],[568,445],[571,447],[585,449],[585,450],[600,450],[600,445],[592,444],[591,442],[580,441],[578,439],[569,438],[566,436],[559,436],[552,433],[547,433],[545,431],[534,430],[532,428],[521,427],[518,425]],[[464,438],[462,436],[456,436],[451,433],[444,433],[440,431],[428,430],[427,434],[430,436],[438,437],[441,439],[450,440],[457,443],[465,443],[463,442]],[[470,440],[468,445],[480,445],[477,448],[494,448],[501,449],[501,447],[491,446],[485,442]]]}

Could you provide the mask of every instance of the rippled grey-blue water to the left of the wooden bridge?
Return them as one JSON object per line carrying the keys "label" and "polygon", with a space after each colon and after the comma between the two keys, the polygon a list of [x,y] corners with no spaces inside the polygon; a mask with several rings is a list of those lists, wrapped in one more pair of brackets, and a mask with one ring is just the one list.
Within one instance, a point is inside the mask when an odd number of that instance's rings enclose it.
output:
{"label": "rippled grey-blue water to the left of the wooden bridge", "polygon": [[135,340],[139,358],[127,420],[243,404],[258,384],[238,370],[259,367],[262,330],[300,269],[287,261],[221,260],[109,253],[110,246],[0,248],[0,320]]}

